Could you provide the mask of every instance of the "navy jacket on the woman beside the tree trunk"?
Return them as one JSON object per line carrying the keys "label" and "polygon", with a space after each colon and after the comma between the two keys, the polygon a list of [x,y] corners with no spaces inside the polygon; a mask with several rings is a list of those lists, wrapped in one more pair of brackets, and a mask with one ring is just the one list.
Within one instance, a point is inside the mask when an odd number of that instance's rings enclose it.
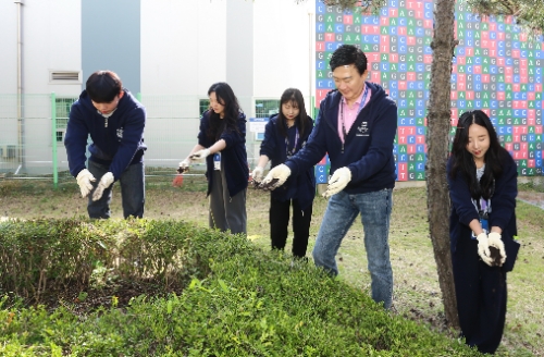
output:
{"label": "navy jacket on the woman beside the tree trunk", "polygon": [[[449,243],[452,253],[456,251],[459,239],[471,239],[472,230],[469,224],[472,220],[479,220],[478,210],[472,204],[470,188],[460,172],[450,177],[453,158],[449,158],[446,172],[452,199],[452,211],[449,214]],[[516,196],[518,195],[518,169],[511,156],[504,150],[502,158],[503,174],[495,178],[495,190],[491,197],[491,213],[489,218],[490,230],[499,226],[503,230],[500,237],[505,244],[507,271],[514,268],[516,258],[516,245],[512,238],[518,234],[516,226]]]}

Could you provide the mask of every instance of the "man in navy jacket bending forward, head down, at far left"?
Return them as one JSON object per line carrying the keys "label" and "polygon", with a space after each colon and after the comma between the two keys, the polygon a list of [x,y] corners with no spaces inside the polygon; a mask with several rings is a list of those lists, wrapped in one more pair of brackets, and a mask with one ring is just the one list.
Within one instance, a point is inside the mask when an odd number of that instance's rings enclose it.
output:
{"label": "man in navy jacket bending forward, head down, at far left", "polygon": [[[76,177],[82,196],[89,197],[90,218],[110,218],[115,181],[121,184],[124,217],[144,216],[145,124],[144,107],[123,88],[114,72],[98,71],[89,76],[86,89],[70,110],[64,146],[70,173]],[[89,135],[92,143],[87,169]]]}

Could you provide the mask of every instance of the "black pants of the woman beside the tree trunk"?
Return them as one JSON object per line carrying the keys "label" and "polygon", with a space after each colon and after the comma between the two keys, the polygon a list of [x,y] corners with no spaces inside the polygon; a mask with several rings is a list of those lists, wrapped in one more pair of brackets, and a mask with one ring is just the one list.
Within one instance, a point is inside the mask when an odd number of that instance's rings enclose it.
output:
{"label": "black pants of the woman beside the tree trunk", "polygon": [[478,256],[478,241],[459,237],[452,254],[457,311],[469,346],[493,354],[503,337],[506,316],[506,272]]}

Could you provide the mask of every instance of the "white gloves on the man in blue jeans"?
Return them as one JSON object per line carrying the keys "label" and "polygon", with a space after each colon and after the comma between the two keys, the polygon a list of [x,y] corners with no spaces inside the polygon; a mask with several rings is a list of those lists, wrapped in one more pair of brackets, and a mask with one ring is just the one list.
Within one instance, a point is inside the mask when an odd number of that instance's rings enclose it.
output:
{"label": "white gloves on the man in blue jeans", "polygon": [[[269,189],[274,189],[280,187],[290,176],[290,169],[284,163],[279,164],[277,167],[270,170],[269,174],[267,175],[267,177],[264,177],[264,180],[262,180],[263,172],[264,168],[257,167],[255,168],[251,175],[256,182],[260,183],[259,184],[260,187],[265,187]],[[272,183],[273,180],[276,181]],[[346,167],[337,169],[331,176],[331,180],[329,181],[329,186],[326,187],[323,197],[329,198],[332,195],[339,193],[347,186],[347,184],[350,181],[351,181],[351,170],[349,170]]]}

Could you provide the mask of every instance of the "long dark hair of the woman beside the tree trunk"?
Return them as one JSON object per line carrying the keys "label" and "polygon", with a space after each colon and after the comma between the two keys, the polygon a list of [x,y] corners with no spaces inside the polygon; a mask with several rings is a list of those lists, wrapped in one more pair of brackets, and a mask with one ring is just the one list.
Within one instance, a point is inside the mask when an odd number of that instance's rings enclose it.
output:
{"label": "long dark hair of the woman beside the tree trunk", "polygon": [[[484,156],[485,170],[480,182],[478,182],[477,167],[472,153],[467,150],[469,127],[474,124],[485,127],[490,135],[490,148]],[[497,134],[487,114],[481,110],[468,111],[461,114],[452,146],[454,164],[449,175],[455,177],[457,173],[462,174],[473,199],[480,197],[489,199],[493,195],[495,178],[503,173],[502,158],[504,155],[509,153],[498,143]]]}

